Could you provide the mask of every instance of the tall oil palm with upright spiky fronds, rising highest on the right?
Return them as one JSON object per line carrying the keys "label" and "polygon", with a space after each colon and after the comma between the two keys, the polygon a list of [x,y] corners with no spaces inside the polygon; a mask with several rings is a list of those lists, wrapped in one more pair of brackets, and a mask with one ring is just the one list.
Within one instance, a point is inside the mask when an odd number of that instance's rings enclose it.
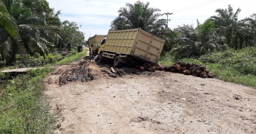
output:
{"label": "tall oil palm with upright spiky fronds, rising highest on the right", "polygon": [[228,5],[228,9],[217,9],[215,12],[217,16],[211,16],[210,19],[216,24],[217,31],[220,35],[225,37],[225,43],[231,48],[242,48],[242,43],[245,38],[250,39],[252,37],[252,18],[246,17],[238,20],[238,14],[241,9],[237,9],[235,12],[231,5]]}

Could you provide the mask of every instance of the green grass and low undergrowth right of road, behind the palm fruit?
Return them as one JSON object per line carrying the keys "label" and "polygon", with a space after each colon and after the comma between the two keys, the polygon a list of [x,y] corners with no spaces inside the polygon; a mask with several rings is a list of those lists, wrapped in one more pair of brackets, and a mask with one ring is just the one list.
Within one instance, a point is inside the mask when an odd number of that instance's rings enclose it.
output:
{"label": "green grass and low undergrowth right of road, behind the palm fruit", "polygon": [[[178,61],[204,65],[210,72],[217,74],[220,80],[256,88],[256,47],[238,51],[230,49]],[[170,54],[165,54],[159,59],[159,63],[164,65],[172,65],[174,62],[177,60]]]}

